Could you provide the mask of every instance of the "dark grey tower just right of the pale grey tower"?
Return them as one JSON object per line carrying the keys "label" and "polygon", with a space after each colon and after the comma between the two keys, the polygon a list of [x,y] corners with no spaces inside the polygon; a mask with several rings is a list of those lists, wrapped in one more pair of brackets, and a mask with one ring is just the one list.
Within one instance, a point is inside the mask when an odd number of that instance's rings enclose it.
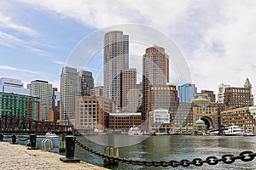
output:
{"label": "dark grey tower just right of the pale grey tower", "polygon": [[90,96],[90,90],[94,88],[94,79],[92,72],[79,71],[79,78],[81,79],[81,95]]}

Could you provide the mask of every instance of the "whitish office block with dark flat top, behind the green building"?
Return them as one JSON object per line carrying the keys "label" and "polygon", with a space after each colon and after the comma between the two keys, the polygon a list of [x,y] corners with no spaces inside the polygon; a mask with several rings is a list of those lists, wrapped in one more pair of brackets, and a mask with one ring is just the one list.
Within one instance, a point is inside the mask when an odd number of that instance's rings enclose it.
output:
{"label": "whitish office block with dark flat top, behind the green building", "polygon": [[27,88],[30,90],[30,95],[40,98],[40,120],[47,120],[52,106],[52,84],[35,80],[27,84]]}

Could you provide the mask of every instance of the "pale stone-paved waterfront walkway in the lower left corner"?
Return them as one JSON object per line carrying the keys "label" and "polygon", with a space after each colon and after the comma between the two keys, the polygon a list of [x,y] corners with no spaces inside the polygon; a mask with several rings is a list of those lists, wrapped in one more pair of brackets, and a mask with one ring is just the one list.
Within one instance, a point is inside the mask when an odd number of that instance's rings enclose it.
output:
{"label": "pale stone-paved waterfront walkway in the lower left corner", "polygon": [[0,142],[0,169],[106,170],[104,167],[97,167],[85,162],[65,163],[60,161],[61,157],[64,156],[60,156],[51,152],[44,152],[42,150],[26,150],[26,146],[20,144]]}

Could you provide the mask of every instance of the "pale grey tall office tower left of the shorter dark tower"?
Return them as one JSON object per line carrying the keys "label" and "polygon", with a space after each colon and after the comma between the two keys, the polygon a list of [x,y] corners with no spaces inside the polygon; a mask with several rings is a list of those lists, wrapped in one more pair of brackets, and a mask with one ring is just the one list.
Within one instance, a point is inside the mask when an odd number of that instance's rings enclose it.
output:
{"label": "pale grey tall office tower left of the shorter dark tower", "polygon": [[61,72],[61,123],[75,122],[75,99],[81,96],[81,77],[77,69],[64,67]]}

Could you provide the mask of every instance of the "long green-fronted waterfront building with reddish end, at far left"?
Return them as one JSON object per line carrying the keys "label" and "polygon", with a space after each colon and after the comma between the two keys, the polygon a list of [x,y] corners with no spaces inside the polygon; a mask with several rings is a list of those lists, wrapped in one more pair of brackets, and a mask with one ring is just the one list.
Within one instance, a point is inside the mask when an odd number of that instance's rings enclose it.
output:
{"label": "long green-fronted waterfront building with reddish end, at far left", "polygon": [[39,121],[40,98],[0,92],[0,116],[23,116]]}

